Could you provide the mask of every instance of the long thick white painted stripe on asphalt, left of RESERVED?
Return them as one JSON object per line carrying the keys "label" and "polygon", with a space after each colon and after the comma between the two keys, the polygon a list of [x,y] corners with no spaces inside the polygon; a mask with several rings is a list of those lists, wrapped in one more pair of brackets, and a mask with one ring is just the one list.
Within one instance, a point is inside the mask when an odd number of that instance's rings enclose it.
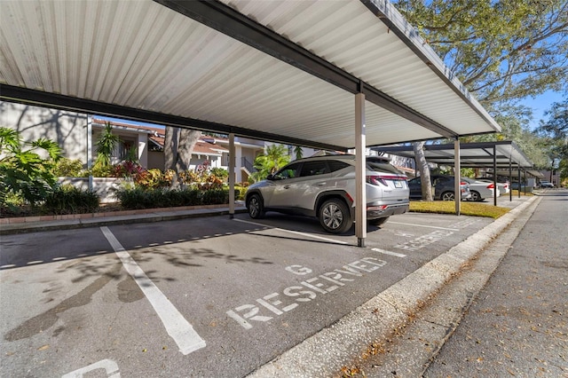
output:
{"label": "long thick white painted stripe on asphalt, left of RESERVED", "polygon": [[146,273],[136,264],[121,243],[116,240],[113,232],[110,232],[108,227],[105,226],[100,227],[100,230],[105,234],[106,240],[113,247],[116,256],[121,259],[126,272],[129,272],[132,279],[136,281],[140,290],[146,295],[146,298],[162,319],[163,326],[168,331],[168,335],[177,343],[179,351],[183,354],[189,354],[194,350],[204,348],[205,340],[197,335],[193,326],[185,320],[184,316],[166,298],[166,295],[163,295],[162,291],[154,285],[154,282],[146,276]]}

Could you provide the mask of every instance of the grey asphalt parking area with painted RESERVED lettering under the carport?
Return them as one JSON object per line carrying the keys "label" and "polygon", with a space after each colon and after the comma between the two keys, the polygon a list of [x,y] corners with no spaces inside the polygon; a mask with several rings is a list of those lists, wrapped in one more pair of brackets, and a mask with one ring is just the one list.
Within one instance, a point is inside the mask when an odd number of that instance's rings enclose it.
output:
{"label": "grey asphalt parking area with painted RESERVED lettering under the carport", "polygon": [[366,248],[277,213],[5,235],[2,371],[245,376],[491,222],[409,213]]}

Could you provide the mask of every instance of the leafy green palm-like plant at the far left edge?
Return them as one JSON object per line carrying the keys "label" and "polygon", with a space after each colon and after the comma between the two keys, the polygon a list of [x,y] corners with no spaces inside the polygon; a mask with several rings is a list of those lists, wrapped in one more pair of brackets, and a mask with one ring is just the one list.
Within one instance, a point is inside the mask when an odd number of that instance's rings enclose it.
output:
{"label": "leafy green palm-like plant at the far left edge", "polygon": [[[46,157],[42,157],[42,155]],[[57,143],[39,138],[24,142],[20,133],[0,128],[0,205],[8,195],[20,195],[32,206],[43,201],[57,184],[53,174],[61,156]]]}

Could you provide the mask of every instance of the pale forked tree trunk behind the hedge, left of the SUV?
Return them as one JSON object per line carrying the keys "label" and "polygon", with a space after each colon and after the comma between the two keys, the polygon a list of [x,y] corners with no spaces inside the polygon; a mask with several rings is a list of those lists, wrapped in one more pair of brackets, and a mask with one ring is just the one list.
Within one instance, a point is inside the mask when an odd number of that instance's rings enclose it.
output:
{"label": "pale forked tree trunk behind the hedge, left of the SUV", "polygon": [[174,178],[171,180],[172,187],[177,187],[179,173],[189,169],[192,159],[193,147],[201,138],[201,131],[182,129],[172,126],[166,127],[166,137],[164,140],[164,170],[171,169]]}

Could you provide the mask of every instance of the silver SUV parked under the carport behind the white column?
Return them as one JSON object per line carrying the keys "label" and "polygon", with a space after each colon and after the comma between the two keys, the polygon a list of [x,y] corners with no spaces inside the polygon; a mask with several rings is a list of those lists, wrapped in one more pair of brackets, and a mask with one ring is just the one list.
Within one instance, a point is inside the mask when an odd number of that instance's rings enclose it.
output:
{"label": "silver SUV parked under the carport behind the white column", "polygon": [[[367,156],[367,220],[380,225],[394,214],[408,211],[406,175],[388,159]],[[318,217],[327,232],[351,229],[355,219],[355,155],[337,154],[290,162],[265,180],[250,185],[248,215],[266,211]]]}

